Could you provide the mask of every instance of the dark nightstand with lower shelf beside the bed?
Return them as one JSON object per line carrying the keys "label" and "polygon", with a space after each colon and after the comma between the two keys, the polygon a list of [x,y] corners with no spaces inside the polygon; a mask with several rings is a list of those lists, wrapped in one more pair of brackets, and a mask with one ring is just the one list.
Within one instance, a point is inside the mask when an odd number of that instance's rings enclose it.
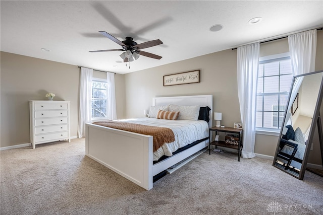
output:
{"label": "dark nightstand with lower shelf beside the bed", "polygon": [[[238,145],[232,145],[232,144],[226,144],[225,141],[219,140],[219,141],[214,141],[211,140],[211,132],[215,131],[216,135],[218,132],[228,132],[228,133],[236,133],[238,134],[238,139],[239,139],[239,144]],[[236,149],[238,150],[238,161],[240,161],[240,156],[241,156],[241,149],[242,149],[242,135],[243,135],[243,129],[238,129],[238,128],[232,128],[232,127],[211,127],[209,129],[209,145],[208,145],[208,154],[211,154],[211,145],[213,146],[219,146],[219,147],[226,147],[230,149]],[[213,137],[214,139],[214,137]]]}

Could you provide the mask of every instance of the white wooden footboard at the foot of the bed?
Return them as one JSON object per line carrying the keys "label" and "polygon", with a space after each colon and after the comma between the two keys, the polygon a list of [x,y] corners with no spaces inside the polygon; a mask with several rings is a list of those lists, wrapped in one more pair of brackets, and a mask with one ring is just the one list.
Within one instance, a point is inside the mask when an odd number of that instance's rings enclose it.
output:
{"label": "white wooden footboard at the foot of the bed", "polygon": [[85,141],[88,157],[147,190],[152,188],[152,136],[86,124]]}

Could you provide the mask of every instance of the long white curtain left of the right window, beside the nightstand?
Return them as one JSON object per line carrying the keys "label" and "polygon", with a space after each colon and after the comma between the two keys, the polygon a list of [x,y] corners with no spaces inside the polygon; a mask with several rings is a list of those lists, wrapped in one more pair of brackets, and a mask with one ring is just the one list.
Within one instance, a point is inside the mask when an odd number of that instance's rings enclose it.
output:
{"label": "long white curtain left of the right window, beside the nightstand", "polygon": [[259,65],[259,43],[238,47],[238,97],[243,124],[243,158],[253,158],[256,136],[256,93]]}

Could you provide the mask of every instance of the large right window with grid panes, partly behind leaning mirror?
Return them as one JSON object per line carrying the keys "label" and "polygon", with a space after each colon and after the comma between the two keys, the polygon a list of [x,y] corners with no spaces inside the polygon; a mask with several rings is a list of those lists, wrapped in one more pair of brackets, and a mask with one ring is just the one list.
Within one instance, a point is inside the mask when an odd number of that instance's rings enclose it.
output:
{"label": "large right window with grid panes, partly behind leaning mirror", "polygon": [[[288,54],[288,53],[287,53]],[[257,130],[279,130],[282,126],[293,79],[289,55],[260,58],[257,85]]]}

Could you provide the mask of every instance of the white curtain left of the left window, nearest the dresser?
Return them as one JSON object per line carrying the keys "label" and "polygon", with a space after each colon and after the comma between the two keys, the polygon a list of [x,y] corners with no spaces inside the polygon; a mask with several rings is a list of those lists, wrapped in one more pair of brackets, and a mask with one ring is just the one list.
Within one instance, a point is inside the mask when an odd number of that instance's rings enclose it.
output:
{"label": "white curtain left of the left window, nearest the dresser", "polygon": [[91,122],[93,69],[81,67],[78,137],[85,136],[85,123]]}

